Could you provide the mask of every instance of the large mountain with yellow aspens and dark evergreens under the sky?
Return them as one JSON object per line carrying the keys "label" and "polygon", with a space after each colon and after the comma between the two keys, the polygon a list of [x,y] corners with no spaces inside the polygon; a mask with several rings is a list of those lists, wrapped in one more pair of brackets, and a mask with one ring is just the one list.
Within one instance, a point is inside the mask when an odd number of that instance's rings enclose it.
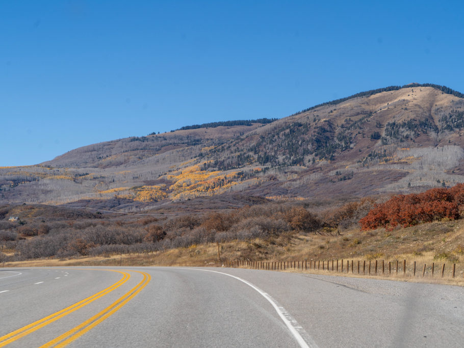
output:
{"label": "large mountain with yellow aspens and dark evergreens under the sky", "polygon": [[419,192],[464,182],[463,132],[461,93],[391,86],[278,120],[186,126],[2,167],[0,203],[188,210]]}

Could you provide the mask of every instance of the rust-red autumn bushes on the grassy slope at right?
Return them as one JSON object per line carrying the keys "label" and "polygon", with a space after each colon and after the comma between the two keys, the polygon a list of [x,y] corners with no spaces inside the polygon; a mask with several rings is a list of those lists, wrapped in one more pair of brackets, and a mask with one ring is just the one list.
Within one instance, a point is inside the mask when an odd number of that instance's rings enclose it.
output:
{"label": "rust-red autumn bushes on the grassy slope at right", "polygon": [[393,229],[398,225],[407,227],[444,218],[455,220],[462,207],[464,184],[457,184],[450,189],[394,196],[385,203],[376,204],[359,224],[363,230],[370,230],[377,227]]}

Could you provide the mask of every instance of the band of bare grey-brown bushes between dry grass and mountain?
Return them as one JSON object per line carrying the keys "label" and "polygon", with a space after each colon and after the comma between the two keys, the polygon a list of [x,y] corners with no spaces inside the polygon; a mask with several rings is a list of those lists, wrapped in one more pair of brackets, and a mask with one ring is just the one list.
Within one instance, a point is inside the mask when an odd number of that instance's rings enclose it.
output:
{"label": "band of bare grey-brown bushes between dry grass and mountain", "polygon": [[266,203],[169,219],[68,214],[53,221],[41,214],[22,224],[0,221],[0,249],[14,251],[11,260],[65,258],[145,253],[292,232],[319,233],[357,223],[366,206],[371,206],[368,201],[354,202],[315,213],[304,204]]}

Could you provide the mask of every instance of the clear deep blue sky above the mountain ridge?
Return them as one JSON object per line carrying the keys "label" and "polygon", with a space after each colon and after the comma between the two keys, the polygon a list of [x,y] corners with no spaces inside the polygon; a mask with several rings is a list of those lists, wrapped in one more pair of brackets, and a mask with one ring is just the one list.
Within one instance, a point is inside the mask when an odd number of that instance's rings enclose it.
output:
{"label": "clear deep blue sky above the mountain ridge", "polygon": [[464,92],[462,1],[2,1],[0,166],[360,91]]}

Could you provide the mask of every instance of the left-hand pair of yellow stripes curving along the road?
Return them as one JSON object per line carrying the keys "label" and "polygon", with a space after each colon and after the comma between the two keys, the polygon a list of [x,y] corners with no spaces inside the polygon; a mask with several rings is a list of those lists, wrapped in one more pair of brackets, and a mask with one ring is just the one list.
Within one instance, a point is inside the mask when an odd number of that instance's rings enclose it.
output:
{"label": "left-hand pair of yellow stripes curving along the road", "polygon": [[44,326],[50,324],[50,323],[53,323],[55,322],[56,320],[62,318],[63,316],[65,315],[68,315],[72,312],[74,312],[75,310],[78,310],[79,308],[82,308],[86,305],[88,305],[89,303],[92,303],[93,301],[107,295],[109,292],[117,289],[119,286],[121,286],[122,284],[124,284],[129,278],[131,278],[131,275],[128,274],[128,273],[125,273],[125,272],[120,272],[120,271],[112,271],[112,272],[117,272],[117,273],[120,273],[123,275],[123,277],[116,283],[114,283],[113,285],[107,287],[106,289],[103,289],[97,293],[95,293],[94,295],[82,300],[82,301],[79,301],[79,302],[76,302],[74,303],[73,305],[69,306],[69,307],[66,307],[58,312],[55,312],[53,314],[50,314],[42,319],[39,319],[39,320],[36,320],[34,323],[31,323],[29,325],[26,325],[22,328],[19,328],[15,331],[12,331],[2,337],[0,337],[0,348],[11,343],[11,342],[14,342],[16,341],[17,339],[21,338],[21,337],[24,337],[26,335],[29,335],[31,332],[34,332],[36,330],[39,330],[40,328],[43,328]]}

